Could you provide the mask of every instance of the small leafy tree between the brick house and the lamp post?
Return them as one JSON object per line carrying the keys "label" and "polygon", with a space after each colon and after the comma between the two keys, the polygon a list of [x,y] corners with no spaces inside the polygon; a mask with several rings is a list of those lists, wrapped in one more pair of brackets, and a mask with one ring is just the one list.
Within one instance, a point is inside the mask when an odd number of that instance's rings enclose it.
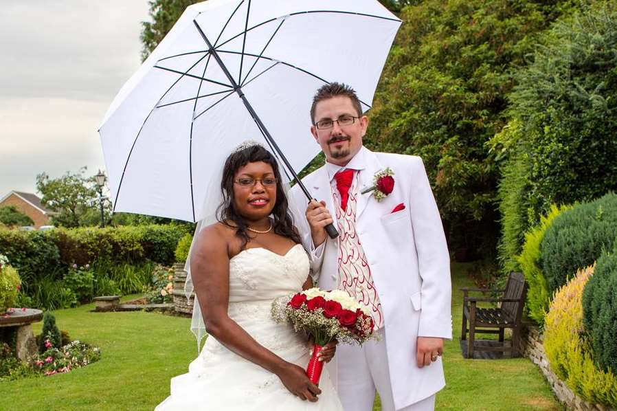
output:
{"label": "small leafy tree between the brick house and the lamp post", "polygon": [[[86,168],[82,167],[78,173],[67,172],[57,179],[49,178],[47,173],[36,176],[36,189],[41,192],[41,202],[58,214],[52,216],[54,225],[64,227],[79,227],[80,225],[96,225],[98,220],[93,221],[96,214],[98,197],[94,188],[94,178],[85,177]],[[108,208],[109,214],[109,205]]]}

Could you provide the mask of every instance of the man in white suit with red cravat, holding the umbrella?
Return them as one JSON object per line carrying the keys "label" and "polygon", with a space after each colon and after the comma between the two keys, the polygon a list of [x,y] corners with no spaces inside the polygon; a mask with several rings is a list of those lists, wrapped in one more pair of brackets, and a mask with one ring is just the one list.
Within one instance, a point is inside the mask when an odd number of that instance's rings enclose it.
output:
{"label": "man in white suit with red cravat, holding the umbrella", "polygon": [[[433,410],[452,336],[449,254],[420,157],[362,145],[368,118],[347,85],[315,94],[311,133],[326,164],[303,179],[316,199],[294,221],[321,289],[342,289],[372,313],[381,339],[341,344],[330,375],[346,411]],[[380,178],[381,177],[381,178]],[[377,182],[377,186],[376,183]],[[291,192],[304,210],[306,198]],[[334,223],[339,237],[324,230]]]}

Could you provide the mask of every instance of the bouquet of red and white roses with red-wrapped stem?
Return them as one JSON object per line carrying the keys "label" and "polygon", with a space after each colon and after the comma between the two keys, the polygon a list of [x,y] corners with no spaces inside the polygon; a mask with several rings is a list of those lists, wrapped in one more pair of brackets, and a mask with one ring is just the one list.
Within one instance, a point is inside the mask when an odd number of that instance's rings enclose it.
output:
{"label": "bouquet of red and white roses with red-wrapped stem", "polygon": [[324,367],[317,355],[328,342],[363,344],[373,335],[374,324],[368,308],[341,290],[311,288],[274,300],[272,318],[276,322],[291,322],[295,331],[304,331],[313,337],[306,375],[317,385]]}

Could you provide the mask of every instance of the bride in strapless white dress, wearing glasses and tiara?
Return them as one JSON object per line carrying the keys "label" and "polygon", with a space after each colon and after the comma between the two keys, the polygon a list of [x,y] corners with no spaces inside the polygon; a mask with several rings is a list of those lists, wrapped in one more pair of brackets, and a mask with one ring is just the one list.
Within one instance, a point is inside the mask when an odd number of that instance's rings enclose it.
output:
{"label": "bride in strapless white dress, wearing glasses and tiara", "polygon": [[[325,370],[319,387],[306,377],[306,339],[271,319],[274,298],[312,287],[276,159],[240,146],[221,189],[218,223],[199,232],[190,263],[210,337],[156,410],[342,410]],[[335,345],[323,353],[328,362]]]}

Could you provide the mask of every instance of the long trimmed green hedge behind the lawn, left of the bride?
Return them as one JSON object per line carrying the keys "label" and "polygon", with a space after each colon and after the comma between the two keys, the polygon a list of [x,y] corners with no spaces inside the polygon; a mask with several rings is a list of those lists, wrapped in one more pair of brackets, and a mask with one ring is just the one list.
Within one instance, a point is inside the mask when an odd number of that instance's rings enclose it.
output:
{"label": "long trimmed green hedge behind the lawn, left of the bride", "polygon": [[[70,281],[65,282],[72,265],[93,266],[92,293],[141,291],[150,278],[152,262],[174,263],[178,241],[186,232],[186,226],[172,224],[46,232],[0,229],[0,254],[19,271],[22,290],[35,307],[56,309],[71,307],[77,297],[91,294],[78,293],[69,287]],[[74,283],[83,280],[72,279]]]}

